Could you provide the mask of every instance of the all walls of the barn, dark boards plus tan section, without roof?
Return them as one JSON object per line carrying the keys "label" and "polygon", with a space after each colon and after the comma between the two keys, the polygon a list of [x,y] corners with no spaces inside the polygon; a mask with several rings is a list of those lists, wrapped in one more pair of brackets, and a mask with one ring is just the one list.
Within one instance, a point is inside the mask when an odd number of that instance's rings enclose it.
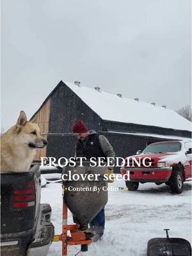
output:
{"label": "all walls of the barn, dark boards plus tan section, without roof", "polygon": [[[37,115],[40,130],[44,133],[71,133],[72,124],[78,119],[83,120],[88,129],[100,131],[100,134],[104,134],[108,138],[118,157],[127,157],[136,154],[136,151],[143,150],[149,143],[161,141],[161,139],[104,131],[147,132],[183,137],[191,136],[191,132],[188,131],[101,120],[99,115],[90,109],[63,82],[58,84],[56,90],[51,93],[48,100],[45,101],[45,104],[37,112]],[[35,157],[36,159],[44,156],[56,157],[56,159],[74,156],[77,139],[71,134],[68,136],[49,135],[47,141],[47,148],[40,150]],[[119,168],[116,168],[115,171],[119,172]]]}

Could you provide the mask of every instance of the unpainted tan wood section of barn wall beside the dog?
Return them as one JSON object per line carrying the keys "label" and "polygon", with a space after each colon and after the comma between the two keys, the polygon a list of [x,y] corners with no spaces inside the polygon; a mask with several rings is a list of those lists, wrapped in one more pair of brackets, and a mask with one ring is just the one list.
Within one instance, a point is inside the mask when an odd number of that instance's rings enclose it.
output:
{"label": "unpainted tan wood section of barn wall beside the dog", "polygon": [[[49,132],[49,116],[51,109],[51,99],[45,102],[44,106],[36,113],[33,119],[37,118],[37,124],[40,127],[41,133]],[[31,121],[33,121],[33,119]],[[47,140],[47,136],[44,136],[45,140]],[[40,157],[45,157],[47,155],[47,147],[42,148],[41,150],[36,151],[35,159],[40,159]]]}

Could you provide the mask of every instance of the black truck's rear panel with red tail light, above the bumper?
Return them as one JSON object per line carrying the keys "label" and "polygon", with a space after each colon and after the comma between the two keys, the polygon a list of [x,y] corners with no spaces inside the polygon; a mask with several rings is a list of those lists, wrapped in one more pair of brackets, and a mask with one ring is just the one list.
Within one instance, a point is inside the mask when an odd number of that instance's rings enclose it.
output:
{"label": "black truck's rear panel with red tail light, above the bumper", "polygon": [[[1,173],[1,234],[24,232],[34,226],[40,186],[38,166],[27,173]],[[37,202],[38,201],[38,202]]]}

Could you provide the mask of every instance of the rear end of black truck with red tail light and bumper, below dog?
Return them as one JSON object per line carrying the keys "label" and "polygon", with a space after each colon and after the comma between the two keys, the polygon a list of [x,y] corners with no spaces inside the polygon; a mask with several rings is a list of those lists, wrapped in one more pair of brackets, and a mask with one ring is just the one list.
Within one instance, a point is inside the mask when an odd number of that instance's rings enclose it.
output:
{"label": "rear end of black truck with red tail light and bumper, below dog", "polygon": [[38,165],[26,173],[1,173],[1,255],[47,255],[54,226],[40,191]]}

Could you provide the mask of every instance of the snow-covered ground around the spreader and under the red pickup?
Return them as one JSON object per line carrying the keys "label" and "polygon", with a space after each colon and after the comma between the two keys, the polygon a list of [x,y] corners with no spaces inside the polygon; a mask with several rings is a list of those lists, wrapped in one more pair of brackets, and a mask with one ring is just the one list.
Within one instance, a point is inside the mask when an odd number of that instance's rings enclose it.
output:
{"label": "snow-covered ground around the spreader and under the red pickup", "polygon": [[[125,188],[124,181],[109,184]],[[52,207],[55,234],[61,234],[61,184],[47,184],[42,188],[42,202]],[[69,223],[72,216],[68,214]],[[109,191],[106,205],[106,230],[102,241],[90,244],[83,256],[144,256],[147,241],[165,237],[164,228],[170,228],[170,237],[191,241],[191,182],[184,184],[180,195],[173,195],[165,184],[140,184],[138,191]],[[68,255],[74,256],[80,246],[68,246]],[[49,256],[61,255],[61,242],[52,243]]]}

